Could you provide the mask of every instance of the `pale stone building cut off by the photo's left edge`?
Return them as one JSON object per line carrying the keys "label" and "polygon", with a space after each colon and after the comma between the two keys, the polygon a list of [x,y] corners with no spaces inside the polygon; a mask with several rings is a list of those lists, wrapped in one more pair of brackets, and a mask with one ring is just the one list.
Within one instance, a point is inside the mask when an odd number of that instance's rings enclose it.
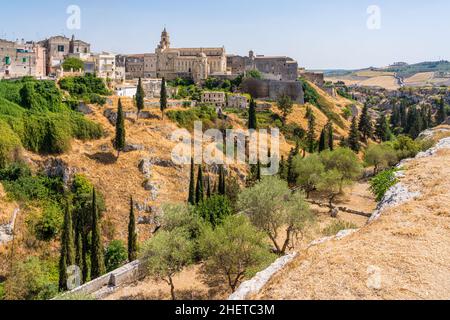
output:
{"label": "pale stone building cut off by the photo's left edge", "polygon": [[46,75],[46,50],[34,42],[0,39],[0,79]]}

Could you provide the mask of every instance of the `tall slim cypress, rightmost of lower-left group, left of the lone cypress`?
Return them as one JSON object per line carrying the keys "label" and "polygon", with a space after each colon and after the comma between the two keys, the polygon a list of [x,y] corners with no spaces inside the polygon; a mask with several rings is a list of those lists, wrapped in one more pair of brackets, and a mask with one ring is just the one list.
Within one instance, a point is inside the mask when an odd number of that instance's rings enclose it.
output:
{"label": "tall slim cypress, rightmost of lower-left group, left of the lone cypress", "polygon": [[105,274],[105,260],[101,240],[100,221],[97,208],[97,195],[92,191],[92,247],[91,247],[91,279],[97,279]]}

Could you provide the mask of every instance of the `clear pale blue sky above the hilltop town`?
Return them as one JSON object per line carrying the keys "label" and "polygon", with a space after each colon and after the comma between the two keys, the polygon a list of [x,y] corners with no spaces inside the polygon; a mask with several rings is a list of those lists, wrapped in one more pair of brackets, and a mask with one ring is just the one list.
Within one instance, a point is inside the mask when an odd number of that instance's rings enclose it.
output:
{"label": "clear pale blue sky above the hilltop town", "polygon": [[[80,30],[66,27],[71,4],[81,8]],[[381,9],[379,30],[367,28],[370,5]],[[153,52],[166,26],[174,47],[288,55],[311,69],[450,60],[448,0],[22,0],[1,7],[0,38],[75,33],[95,51]]]}

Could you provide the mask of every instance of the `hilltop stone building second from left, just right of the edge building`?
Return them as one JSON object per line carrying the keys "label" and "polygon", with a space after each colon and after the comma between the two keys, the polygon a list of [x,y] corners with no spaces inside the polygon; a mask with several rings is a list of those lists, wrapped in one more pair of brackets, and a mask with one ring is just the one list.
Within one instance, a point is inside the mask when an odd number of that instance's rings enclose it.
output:
{"label": "hilltop stone building second from left, just right of the edge building", "polygon": [[89,55],[91,45],[87,42],[76,40],[75,36],[69,39],[64,36],[54,36],[40,41],[39,44],[47,50],[47,75],[56,74],[64,59],[69,55]]}

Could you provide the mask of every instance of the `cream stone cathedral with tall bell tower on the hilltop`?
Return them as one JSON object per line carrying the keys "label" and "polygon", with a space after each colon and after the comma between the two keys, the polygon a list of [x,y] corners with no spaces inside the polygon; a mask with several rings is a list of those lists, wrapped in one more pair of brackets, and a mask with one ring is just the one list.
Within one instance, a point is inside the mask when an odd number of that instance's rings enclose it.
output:
{"label": "cream stone cathedral with tall bell tower on the hilltop", "polygon": [[227,72],[225,48],[171,48],[170,36],[164,28],[155,50],[156,77],[172,80],[192,78],[196,83]]}

